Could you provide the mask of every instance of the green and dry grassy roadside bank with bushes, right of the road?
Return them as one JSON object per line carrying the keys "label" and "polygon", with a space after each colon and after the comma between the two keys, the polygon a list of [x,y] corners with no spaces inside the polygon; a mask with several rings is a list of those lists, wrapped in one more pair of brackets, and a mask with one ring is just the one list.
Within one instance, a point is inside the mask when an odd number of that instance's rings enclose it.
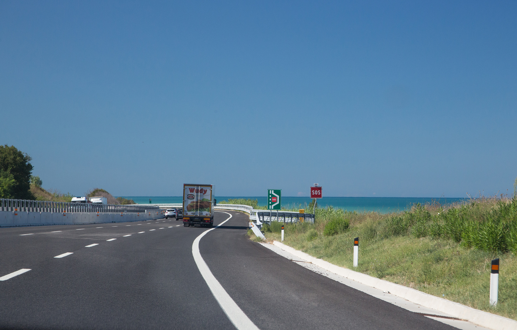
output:
{"label": "green and dry grassy roadside bank with bushes, right of the road", "polygon": [[[266,239],[280,241],[281,225],[265,224]],[[284,228],[285,244],[334,265],[517,320],[517,197],[417,204],[389,214],[316,208],[315,224],[286,223]],[[494,258],[500,259],[499,298],[491,307]]]}

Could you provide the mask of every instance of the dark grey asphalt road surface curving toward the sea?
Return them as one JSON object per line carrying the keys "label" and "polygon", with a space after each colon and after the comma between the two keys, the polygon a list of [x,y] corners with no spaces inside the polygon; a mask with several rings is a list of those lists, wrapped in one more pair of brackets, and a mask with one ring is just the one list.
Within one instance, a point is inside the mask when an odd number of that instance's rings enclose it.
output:
{"label": "dark grey asphalt road surface curving toward the sea", "polygon": [[[214,224],[228,213],[199,251],[259,329],[454,329],[250,241],[245,214],[215,212]],[[0,328],[235,329],[193,257],[206,230],[174,219],[0,228]]]}

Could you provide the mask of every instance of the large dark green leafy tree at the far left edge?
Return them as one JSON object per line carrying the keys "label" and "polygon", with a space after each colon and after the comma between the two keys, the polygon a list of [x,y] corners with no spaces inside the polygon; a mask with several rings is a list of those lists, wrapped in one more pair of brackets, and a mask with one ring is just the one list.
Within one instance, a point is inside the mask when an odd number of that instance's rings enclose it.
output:
{"label": "large dark green leafy tree at the far left edge", "polygon": [[[31,156],[19,151],[13,145],[0,145],[2,196],[9,195],[10,198],[14,199],[34,200],[34,195],[30,190],[33,170],[33,166],[29,162],[31,160]],[[12,180],[14,180],[14,183]]]}

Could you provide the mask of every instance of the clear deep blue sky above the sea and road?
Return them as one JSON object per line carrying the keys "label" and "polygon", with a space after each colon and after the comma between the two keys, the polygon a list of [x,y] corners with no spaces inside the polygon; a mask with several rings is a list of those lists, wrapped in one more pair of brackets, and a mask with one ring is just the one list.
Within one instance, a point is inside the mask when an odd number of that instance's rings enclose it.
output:
{"label": "clear deep blue sky above the sea and road", "polygon": [[0,3],[0,143],[81,194],[513,191],[517,2]]}

